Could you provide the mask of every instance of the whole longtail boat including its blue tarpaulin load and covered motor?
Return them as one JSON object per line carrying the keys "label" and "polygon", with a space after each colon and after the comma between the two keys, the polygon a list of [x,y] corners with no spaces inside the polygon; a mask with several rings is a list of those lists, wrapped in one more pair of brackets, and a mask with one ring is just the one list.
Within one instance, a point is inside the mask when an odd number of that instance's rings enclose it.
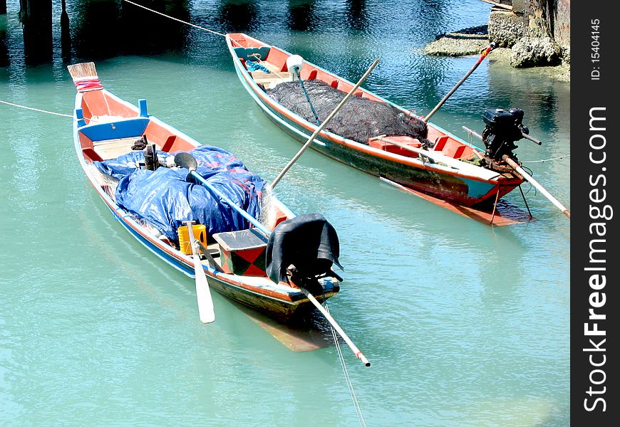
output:
{"label": "whole longtail boat including its blue tarpaulin load and covered motor", "polygon": [[[339,292],[341,279],[331,270],[332,263],[338,264],[336,236],[333,235],[332,241],[327,242],[327,247],[321,246],[324,251],[322,255],[313,254],[312,248],[304,248],[304,243],[314,243],[312,239],[316,236],[312,235],[313,230],[318,231],[319,235],[326,230],[333,231],[329,223],[321,222],[322,216],[294,216],[274,194],[267,194],[267,186],[260,189],[259,177],[247,171],[232,154],[202,145],[150,115],[146,100],[139,100],[139,107],[136,107],[105,90],[93,63],[69,65],[69,70],[78,91],[73,140],[79,163],[105,206],[130,236],[173,268],[193,278],[204,274],[211,289],[277,320],[289,321],[311,310],[313,305],[306,289],[311,290],[319,302]],[[177,159],[184,158],[179,153],[185,153],[185,159],[197,159],[197,169],[187,169],[187,165],[177,164]],[[210,163],[199,154],[213,154]],[[170,184],[148,187],[149,180],[154,181],[159,175],[166,174],[172,176],[172,181],[168,181]],[[201,182],[190,179],[190,175],[196,174],[200,175],[199,180],[203,180],[203,176],[204,179],[219,176],[219,180],[215,179],[207,188]],[[233,192],[241,194],[240,199],[245,200],[241,203],[243,206],[224,204],[222,207],[221,203],[217,204],[222,199],[218,191],[223,191],[221,189],[230,184],[226,181],[228,175],[233,176],[229,179],[234,181],[231,185],[237,185]],[[139,181],[140,176],[147,180]],[[247,179],[247,176],[250,178]],[[177,186],[192,195],[189,201],[170,196]],[[252,186],[252,194],[243,192]],[[213,194],[215,187],[220,190],[216,189]],[[148,194],[139,199],[137,194],[144,190]],[[164,196],[156,199],[160,193]],[[249,211],[247,206],[254,203],[253,215],[256,218],[249,218],[252,221],[247,221],[245,215],[212,218],[217,217],[218,213],[211,212],[199,221],[201,218],[195,215],[193,209],[202,199],[208,199],[208,204],[217,204],[219,210],[229,213],[239,209]],[[227,203],[230,204],[229,201]],[[163,216],[177,217],[166,218],[168,223],[151,218],[147,214],[157,205],[164,208],[175,205]],[[185,226],[184,237],[181,224],[185,221],[202,224],[189,223]],[[209,227],[217,228],[222,222],[229,229],[209,233]],[[213,226],[214,223],[216,226]],[[291,231],[291,223],[293,231],[299,231],[300,224],[301,228],[306,226],[301,231],[302,238],[299,238],[299,233],[293,238],[286,233]],[[204,228],[201,229],[201,225]],[[285,229],[286,226],[289,228]],[[314,228],[309,230],[308,227]],[[168,228],[172,228],[172,236],[169,230],[166,231]],[[267,230],[267,233],[261,233],[261,230]],[[190,233],[195,233],[196,237],[190,237]],[[265,234],[270,234],[269,238]],[[289,236],[288,241],[286,236]],[[200,250],[195,251],[198,247]],[[287,253],[287,248],[295,253]],[[331,253],[326,255],[326,249]],[[294,262],[292,259],[301,256],[300,253],[308,259]],[[286,265],[283,264],[285,262]],[[298,276],[291,276],[291,280],[286,278],[286,274],[290,273],[285,270],[288,263],[298,268]],[[301,271],[302,267],[304,271]],[[305,288],[295,283],[303,283]]]}

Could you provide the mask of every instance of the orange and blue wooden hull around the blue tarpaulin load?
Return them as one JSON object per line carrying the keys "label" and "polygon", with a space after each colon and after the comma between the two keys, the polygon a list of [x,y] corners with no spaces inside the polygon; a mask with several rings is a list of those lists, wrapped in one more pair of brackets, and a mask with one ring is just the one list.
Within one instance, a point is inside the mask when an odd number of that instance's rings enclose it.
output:
{"label": "orange and blue wooden hull around the blue tarpaulin load", "polygon": [[[71,68],[78,65],[81,69]],[[304,289],[294,285],[293,280],[275,283],[265,271],[269,241],[264,233],[257,231],[259,228],[277,230],[277,226],[295,217],[274,194],[263,195],[261,215],[259,220],[254,220],[260,221],[257,226],[248,223],[243,229],[202,236],[205,241],[200,254],[202,259],[198,261],[192,250],[190,253],[187,248],[182,250],[181,238],[172,241],[143,216],[119,204],[118,180],[103,173],[97,164],[135,152],[139,149],[135,147],[139,141],[155,144],[157,154],[191,153],[201,144],[148,114],[146,100],[139,100],[139,107],[136,107],[105,90],[94,64],[70,65],[70,71],[78,90],[73,121],[78,160],[95,191],[130,235],[173,268],[195,278],[204,273],[210,288],[259,312],[284,321],[309,312],[313,305]],[[145,166],[148,167],[147,154],[148,149],[144,151]],[[170,159],[166,159],[168,161]],[[174,164],[170,166],[178,169]],[[140,164],[135,164],[135,168],[144,170]],[[200,183],[195,185],[200,186]],[[313,293],[319,301],[339,292],[339,280],[329,275],[317,278],[315,285],[319,288]]]}

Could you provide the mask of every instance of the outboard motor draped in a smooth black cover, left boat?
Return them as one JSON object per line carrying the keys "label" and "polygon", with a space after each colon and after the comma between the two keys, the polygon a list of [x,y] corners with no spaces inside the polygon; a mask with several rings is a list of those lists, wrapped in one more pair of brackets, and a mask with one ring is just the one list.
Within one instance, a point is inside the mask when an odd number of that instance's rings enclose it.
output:
{"label": "outboard motor draped in a smooth black cover, left boat", "polygon": [[[309,292],[321,292],[319,278],[342,280],[333,270],[340,262],[336,230],[321,214],[304,214],[282,221],[267,242],[266,270],[274,283],[293,281]],[[317,287],[314,290],[309,289]]]}

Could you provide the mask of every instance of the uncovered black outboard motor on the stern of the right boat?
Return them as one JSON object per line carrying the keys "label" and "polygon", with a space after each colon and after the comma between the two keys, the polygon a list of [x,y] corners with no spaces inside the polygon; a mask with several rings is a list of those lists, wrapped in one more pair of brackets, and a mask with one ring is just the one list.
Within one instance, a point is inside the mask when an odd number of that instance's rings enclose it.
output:
{"label": "uncovered black outboard motor on the stern of the right boat", "polygon": [[[487,110],[482,114],[485,121],[485,130],[482,132],[482,142],[485,143],[485,157],[491,162],[503,162],[504,154],[518,162],[512,150],[517,149],[515,141],[529,134],[529,130],[522,124],[523,110],[501,108]],[[493,166],[492,164],[490,166]]]}

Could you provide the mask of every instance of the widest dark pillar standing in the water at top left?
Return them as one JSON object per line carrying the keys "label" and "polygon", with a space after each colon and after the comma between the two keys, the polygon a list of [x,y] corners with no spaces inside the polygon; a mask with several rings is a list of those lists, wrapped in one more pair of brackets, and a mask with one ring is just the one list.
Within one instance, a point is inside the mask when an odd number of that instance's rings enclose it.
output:
{"label": "widest dark pillar standing in the water at top left", "polygon": [[20,0],[19,6],[26,63],[36,65],[51,61],[52,0]]}

